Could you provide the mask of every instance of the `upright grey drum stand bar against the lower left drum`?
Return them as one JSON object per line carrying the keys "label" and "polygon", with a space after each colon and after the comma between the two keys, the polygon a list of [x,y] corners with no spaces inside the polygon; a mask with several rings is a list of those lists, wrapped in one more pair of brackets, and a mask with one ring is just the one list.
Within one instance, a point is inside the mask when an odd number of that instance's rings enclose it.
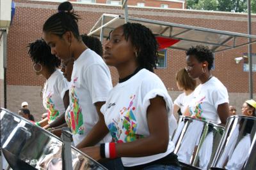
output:
{"label": "upright grey drum stand bar against the lower left drum", "polygon": [[61,129],[61,139],[63,140],[62,148],[62,167],[64,170],[72,170],[72,152],[71,152],[71,141],[72,133],[69,127],[63,127]]}

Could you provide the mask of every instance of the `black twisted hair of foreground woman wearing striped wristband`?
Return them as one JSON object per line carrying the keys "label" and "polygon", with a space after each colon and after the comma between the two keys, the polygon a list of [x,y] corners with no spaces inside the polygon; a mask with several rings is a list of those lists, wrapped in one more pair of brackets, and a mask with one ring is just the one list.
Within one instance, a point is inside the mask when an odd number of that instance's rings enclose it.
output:
{"label": "black twisted hair of foreground woman wearing striped wristband", "polygon": [[122,25],[125,40],[131,39],[137,49],[139,66],[154,72],[158,56],[158,43],[152,31],[141,24],[127,23]]}

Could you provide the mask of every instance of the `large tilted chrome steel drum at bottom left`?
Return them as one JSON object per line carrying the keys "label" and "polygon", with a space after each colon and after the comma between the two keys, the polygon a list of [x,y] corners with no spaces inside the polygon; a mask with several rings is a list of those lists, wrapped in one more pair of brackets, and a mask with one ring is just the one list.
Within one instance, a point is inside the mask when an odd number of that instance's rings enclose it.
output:
{"label": "large tilted chrome steel drum at bottom left", "polygon": [[[1,147],[5,157],[26,162],[36,169],[61,169],[63,143],[60,138],[31,124],[16,113],[0,108]],[[8,158],[6,157],[6,160]],[[10,160],[8,161],[10,162]],[[20,164],[23,164],[20,162]],[[73,169],[106,169],[72,147]]]}

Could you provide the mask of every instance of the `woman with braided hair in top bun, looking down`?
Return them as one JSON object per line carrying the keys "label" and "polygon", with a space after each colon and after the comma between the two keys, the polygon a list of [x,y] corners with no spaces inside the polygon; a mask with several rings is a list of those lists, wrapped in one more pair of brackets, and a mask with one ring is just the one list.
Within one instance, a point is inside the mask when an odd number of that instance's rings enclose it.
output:
{"label": "woman with braided hair in top bun, looking down", "polygon": [[105,103],[112,83],[109,68],[102,57],[84,45],[78,20],[74,10],[59,10],[45,21],[43,32],[52,55],[65,63],[74,60],[67,123],[71,126],[74,145],[82,148],[110,139],[108,129],[104,129],[100,107]]}

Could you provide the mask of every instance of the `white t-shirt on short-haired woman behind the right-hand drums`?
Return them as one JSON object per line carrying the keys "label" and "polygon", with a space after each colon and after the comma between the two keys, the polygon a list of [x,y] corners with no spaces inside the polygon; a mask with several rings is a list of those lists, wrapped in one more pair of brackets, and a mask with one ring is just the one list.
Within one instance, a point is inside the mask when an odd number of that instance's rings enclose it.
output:
{"label": "white t-shirt on short-haired woman behind the right-hand drums", "polygon": [[191,117],[220,124],[218,105],[228,103],[228,92],[223,83],[213,76],[204,84],[198,85],[193,95],[194,99],[189,103]]}

